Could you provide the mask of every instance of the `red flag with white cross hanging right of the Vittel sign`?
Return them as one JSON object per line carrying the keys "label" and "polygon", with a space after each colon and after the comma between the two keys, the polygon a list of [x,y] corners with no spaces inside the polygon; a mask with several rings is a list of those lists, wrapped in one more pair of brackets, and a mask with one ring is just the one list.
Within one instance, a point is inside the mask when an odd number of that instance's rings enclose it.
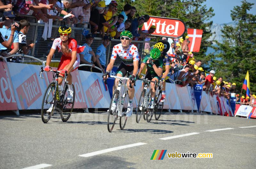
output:
{"label": "red flag with white cross hanging right of the Vittel sign", "polygon": [[201,29],[188,29],[189,45],[188,49],[191,52],[199,52],[201,46],[203,30]]}

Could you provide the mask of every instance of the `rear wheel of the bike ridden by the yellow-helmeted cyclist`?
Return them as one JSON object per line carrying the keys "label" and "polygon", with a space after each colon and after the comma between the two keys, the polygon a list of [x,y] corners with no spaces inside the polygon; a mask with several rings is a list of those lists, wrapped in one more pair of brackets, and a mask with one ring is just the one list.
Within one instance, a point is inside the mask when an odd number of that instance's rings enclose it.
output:
{"label": "rear wheel of the bike ridden by the yellow-helmeted cyclist", "polygon": [[73,99],[68,100],[68,84],[66,85],[66,88],[64,90],[64,93],[62,95],[62,102],[61,102],[61,111],[60,111],[60,117],[63,122],[68,121],[68,119],[71,116],[71,113],[73,111],[73,107],[75,104],[75,87],[72,84],[73,87]]}

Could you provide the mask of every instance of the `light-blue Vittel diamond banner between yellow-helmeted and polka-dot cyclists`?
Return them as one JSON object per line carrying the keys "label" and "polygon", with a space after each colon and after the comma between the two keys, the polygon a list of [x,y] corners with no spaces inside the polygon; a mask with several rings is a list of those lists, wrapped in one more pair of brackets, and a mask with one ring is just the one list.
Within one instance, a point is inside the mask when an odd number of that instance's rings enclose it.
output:
{"label": "light-blue Vittel diamond banner between yellow-helmeted and polka-dot cyclists", "polygon": [[108,108],[111,98],[108,87],[103,82],[102,73],[78,72],[88,108]]}

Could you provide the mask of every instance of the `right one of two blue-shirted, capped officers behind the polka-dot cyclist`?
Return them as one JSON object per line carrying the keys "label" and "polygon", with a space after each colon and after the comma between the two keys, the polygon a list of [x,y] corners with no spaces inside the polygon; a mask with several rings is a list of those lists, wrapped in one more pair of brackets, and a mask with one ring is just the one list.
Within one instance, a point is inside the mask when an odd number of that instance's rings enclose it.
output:
{"label": "right one of two blue-shirted, capped officers behind the polka-dot cyclist", "polygon": [[[103,42],[102,44],[97,48],[96,52],[96,63],[95,65],[99,67],[103,73],[105,73],[105,67],[106,67],[106,48],[109,45],[111,41],[111,37],[109,35],[106,35],[103,37]],[[93,72],[99,72],[101,73],[100,70],[98,69],[93,69]]]}

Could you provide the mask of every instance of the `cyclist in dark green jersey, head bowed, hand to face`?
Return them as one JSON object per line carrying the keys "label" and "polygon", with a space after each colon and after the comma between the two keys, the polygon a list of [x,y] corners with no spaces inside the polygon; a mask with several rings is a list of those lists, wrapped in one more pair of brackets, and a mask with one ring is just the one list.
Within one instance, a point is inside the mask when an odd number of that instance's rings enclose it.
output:
{"label": "cyclist in dark green jersey, head bowed, hand to face", "polygon": [[[159,76],[161,76],[161,74],[163,73],[163,65],[164,65],[163,59],[160,58],[160,56],[161,56],[161,52],[159,49],[155,48],[151,50],[150,55],[146,55],[143,58],[140,65],[140,72],[138,75],[140,75],[145,65],[147,65],[147,72],[144,76],[144,79],[158,82],[160,80]],[[151,100],[148,108],[153,109],[155,106],[154,98],[155,98],[156,90],[154,86],[155,84],[153,82],[151,82],[150,85],[151,85],[151,89],[150,89]]]}

